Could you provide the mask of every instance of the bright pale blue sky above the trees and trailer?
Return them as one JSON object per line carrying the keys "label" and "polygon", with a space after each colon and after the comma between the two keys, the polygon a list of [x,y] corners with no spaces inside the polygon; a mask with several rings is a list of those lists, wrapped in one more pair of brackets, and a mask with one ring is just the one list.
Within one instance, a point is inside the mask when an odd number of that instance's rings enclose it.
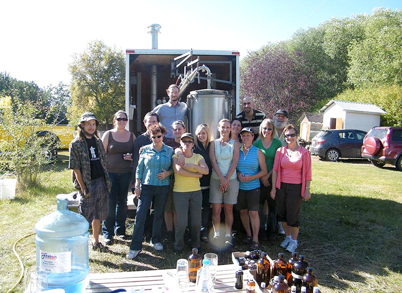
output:
{"label": "bright pale blue sky above the trees and trailer", "polygon": [[396,0],[70,0],[0,4],[0,71],[40,87],[69,84],[68,64],[88,42],[148,49],[148,26],[162,26],[159,49],[238,50],[241,57],[268,42],[332,17],[401,9]]}

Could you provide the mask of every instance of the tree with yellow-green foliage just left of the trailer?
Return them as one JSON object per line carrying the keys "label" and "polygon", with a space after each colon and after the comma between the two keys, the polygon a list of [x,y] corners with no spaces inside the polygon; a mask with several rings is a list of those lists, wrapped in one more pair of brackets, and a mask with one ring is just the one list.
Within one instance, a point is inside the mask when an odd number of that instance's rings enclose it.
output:
{"label": "tree with yellow-green foliage just left of the trailer", "polygon": [[125,58],[122,51],[93,41],[85,51],[74,55],[69,65],[71,74],[71,107],[67,117],[78,122],[83,112],[90,111],[107,127],[113,114],[124,109]]}

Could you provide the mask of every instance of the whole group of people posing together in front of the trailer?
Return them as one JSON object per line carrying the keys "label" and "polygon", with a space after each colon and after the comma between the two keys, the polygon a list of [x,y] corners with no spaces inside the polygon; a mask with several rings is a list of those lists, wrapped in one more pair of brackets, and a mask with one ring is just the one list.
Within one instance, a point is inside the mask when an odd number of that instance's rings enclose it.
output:
{"label": "whole group of people posing together in front of the trailer", "polygon": [[[279,222],[285,233],[281,246],[294,252],[300,207],[311,197],[311,158],[298,145],[296,127],[287,124],[287,112],[278,110],[268,119],[245,97],[243,111],[233,121],[203,123],[192,134],[183,122],[187,106],[178,101],[178,87],[166,91],[169,101],[145,115],[147,130],[138,137],[126,130],[124,111],[114,115],[114,128],[102,140],[95,116],[86,112],[81,117],[70,144],[69,168],[81,191],[79,212],[92,225],[92,248],[105,251],[114,236],[127,237],[127,193],[134,188],[138,206],[128,259],[142,250],[151,206],[150,245],[155,250],[172,241],[181,252],[186,231],[192,247],[211,242],[230,248],[234,215],[239,214],[246,232],[242,243],[250,249],[272,237]],[[217,127],[219,138],[211,141],[210,127]],[[107,246],[96,233],[101,221]]]}

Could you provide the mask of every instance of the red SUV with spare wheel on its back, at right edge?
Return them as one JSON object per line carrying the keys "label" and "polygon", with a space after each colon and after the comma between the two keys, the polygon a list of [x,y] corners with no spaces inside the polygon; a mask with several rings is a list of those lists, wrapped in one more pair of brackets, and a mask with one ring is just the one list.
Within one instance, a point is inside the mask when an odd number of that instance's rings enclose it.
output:
{"label": "red SUV with spare wheel on its back, at right edge", "polygon": [[373,127],[363,139],[361,156],[376,167],[392,164],[402,171],[402,127]]}

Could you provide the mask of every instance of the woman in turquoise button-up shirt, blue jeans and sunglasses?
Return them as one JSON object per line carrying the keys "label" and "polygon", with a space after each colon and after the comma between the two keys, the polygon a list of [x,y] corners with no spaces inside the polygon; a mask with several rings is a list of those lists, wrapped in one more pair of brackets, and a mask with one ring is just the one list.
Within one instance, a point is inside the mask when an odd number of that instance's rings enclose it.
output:
{"label": "woman in turquoise button-up shirt, blue jeans and sunglasses", "polygon": [[169,192],[169,176],[172,174],[173,149],[163,143],[163,135],[166,133],[165,127],[155,124],[148,131],[152,143],[141,148],[135,176],[135,195],[138,198],[138,207],[130,251],[126,255],[128,259],[135,258],[142,250],[145,219],[152,201],[154,203],[154,220],[150,244],[155,250],[163,250],[163,212]]}

